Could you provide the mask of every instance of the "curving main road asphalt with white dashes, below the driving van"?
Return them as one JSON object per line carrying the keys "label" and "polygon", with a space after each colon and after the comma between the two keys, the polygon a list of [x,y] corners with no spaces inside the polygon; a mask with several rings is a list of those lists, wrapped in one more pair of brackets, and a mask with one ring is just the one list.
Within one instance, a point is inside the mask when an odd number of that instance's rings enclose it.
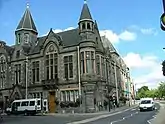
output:
{"label": "curving main road asphalt with white dashes, below the driving van", "polygon": [[151,124],[151,120],[155,117],[160,109],[159,104],[156,104],[156,110],[140,112],[138,108],[116,114],[104,119],[99,119],[86,124]]}

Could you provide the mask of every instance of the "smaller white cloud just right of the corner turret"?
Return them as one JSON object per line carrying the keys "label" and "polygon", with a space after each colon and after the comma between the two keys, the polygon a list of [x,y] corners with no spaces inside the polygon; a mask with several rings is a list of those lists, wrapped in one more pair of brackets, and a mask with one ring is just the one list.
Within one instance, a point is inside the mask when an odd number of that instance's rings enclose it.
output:
{"label": "smaller white cloud just right of the corner turret", "polygon": [[117,34],[112,30],[100,30],[100,35],[108,38],[111,43],[118,43],[120,40],[133,41],[137,37],[136,33],[127,30],[121,32],[120,34]]}

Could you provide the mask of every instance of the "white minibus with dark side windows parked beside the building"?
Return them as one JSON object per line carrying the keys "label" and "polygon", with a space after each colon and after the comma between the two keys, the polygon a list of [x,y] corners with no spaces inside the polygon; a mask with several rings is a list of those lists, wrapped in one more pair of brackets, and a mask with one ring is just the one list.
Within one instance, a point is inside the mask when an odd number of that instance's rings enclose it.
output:
{"label": "white minibus with dark side windows parked beside the building", "polygon": [[38,98],[14,100],[11,104],[11,107],[6,109],[7,114],[35,115],[40,112],[41,112],[41,99]]}

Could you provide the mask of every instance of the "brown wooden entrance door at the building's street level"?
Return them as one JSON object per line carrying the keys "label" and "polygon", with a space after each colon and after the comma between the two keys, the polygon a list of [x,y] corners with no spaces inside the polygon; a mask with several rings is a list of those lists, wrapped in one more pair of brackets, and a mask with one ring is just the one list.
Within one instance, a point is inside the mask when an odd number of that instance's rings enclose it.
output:
{"label": "brown wooden entrance door at the building's street level", "polygon": [[55,113],[56,111],[56,103],[55,103],[55,91],[49,92],[49,112]]}

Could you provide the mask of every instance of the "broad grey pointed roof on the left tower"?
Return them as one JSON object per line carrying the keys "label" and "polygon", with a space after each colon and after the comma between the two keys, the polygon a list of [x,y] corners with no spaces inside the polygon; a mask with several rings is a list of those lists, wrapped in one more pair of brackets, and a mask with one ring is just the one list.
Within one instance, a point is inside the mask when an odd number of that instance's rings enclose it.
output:
{"label": "broad grey pointed roof on the left tower", "polygon": [[36,28],[36,26],[34,24],[32,15],[30,13],[29,3],[28,2],[27,2],[25,13],[24,13],[21,21],[19,22],[19,25],[18,25],[16,31],[22,30],[22,29],[24,29],[24,30],[31,30],[31,31],[34,31],[34,32],[37,33],[37,28]]}

